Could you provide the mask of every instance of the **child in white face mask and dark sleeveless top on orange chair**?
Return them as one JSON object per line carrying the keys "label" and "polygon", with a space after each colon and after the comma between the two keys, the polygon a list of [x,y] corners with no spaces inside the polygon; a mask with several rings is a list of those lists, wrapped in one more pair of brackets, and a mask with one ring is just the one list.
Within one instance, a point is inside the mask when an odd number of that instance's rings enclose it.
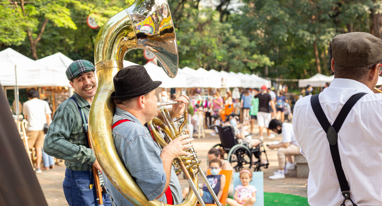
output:
{"label": "child in white face mask and dark sleeveless top on orange chair", "polygon": [[[212,189],[214,190],[217,199],[220,199],[223,195],[223,188],[225,186],[225,175],[219,175],[219,172],[222,170],[222,162],[219,159],[215,158],[209,161],[209,168],[211,175],[207,175],[207,180],[210,183]],[[188,194],[188,188],[185,188],[182,192],[183,198],[186,198]],[[210,191],[208,190],[206,184],[203,184],[202,190],[200,190],[200,195],[204,203],[212,204],[214,203],[214,198]]]}

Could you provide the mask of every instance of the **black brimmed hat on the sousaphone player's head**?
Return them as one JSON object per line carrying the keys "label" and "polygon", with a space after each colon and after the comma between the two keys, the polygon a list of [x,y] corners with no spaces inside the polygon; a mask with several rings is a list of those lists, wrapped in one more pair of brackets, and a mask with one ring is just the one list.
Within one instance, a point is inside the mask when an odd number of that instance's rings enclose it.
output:
{"label": "black brimmed hat on the sousaphone player's head", "polygon": [[113,82],[115,92],[111,96],[115,100],[126,100],[144,95],[162,83],[153,81],[142,65],[132,65],[119,70]]}

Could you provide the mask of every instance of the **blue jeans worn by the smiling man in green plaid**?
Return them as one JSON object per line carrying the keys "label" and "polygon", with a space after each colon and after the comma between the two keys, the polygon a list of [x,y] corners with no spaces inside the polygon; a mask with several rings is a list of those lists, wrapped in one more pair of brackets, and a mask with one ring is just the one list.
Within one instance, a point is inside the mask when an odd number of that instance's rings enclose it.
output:
{"label": "blue jeans worn by the smiling man in green plaid", "polygon": [[[62,187],[70,206],[99,206],[95,200],[95,187],[89,189],[89,185],[94,183],[93,179],[93,172],[90,170],[75,171],[66,168]],[[102,199],[104,206],[112,205],[106,193],[102,193]]]}

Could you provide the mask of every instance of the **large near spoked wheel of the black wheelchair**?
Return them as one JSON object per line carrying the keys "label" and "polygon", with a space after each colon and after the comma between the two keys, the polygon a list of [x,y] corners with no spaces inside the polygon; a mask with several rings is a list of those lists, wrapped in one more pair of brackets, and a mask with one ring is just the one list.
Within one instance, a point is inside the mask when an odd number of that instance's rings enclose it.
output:
{"label": "large near spoked wheel of the black wheelchair", "polygon": [[232,147],[228,154],[228,160],[236,172],[239,172],[244,167],[251,167],[251,152],[241,144]]}

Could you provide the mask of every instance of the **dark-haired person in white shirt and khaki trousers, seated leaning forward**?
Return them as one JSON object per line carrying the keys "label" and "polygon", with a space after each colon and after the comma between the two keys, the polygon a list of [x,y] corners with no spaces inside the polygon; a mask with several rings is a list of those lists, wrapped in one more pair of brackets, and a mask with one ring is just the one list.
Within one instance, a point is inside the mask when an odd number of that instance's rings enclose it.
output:
{"label": "dark-haired person in white shirt and khaki trousers, seated leaning forward", "polygon": [[[269,179],[278,180],[285,178],[285,156],[300,155],[300,147],[297,144],[295,134],[293,133],[293,126],[291,123],[282,123],[278,119],[272,119],[269,122],[268,128],[278,134],[282,134],[283,141],[278,144],[267,145],[269,149],[277,149],[278,157],[278,172],[270,176]],[[289,159],[289,158],[288,158]]]}

